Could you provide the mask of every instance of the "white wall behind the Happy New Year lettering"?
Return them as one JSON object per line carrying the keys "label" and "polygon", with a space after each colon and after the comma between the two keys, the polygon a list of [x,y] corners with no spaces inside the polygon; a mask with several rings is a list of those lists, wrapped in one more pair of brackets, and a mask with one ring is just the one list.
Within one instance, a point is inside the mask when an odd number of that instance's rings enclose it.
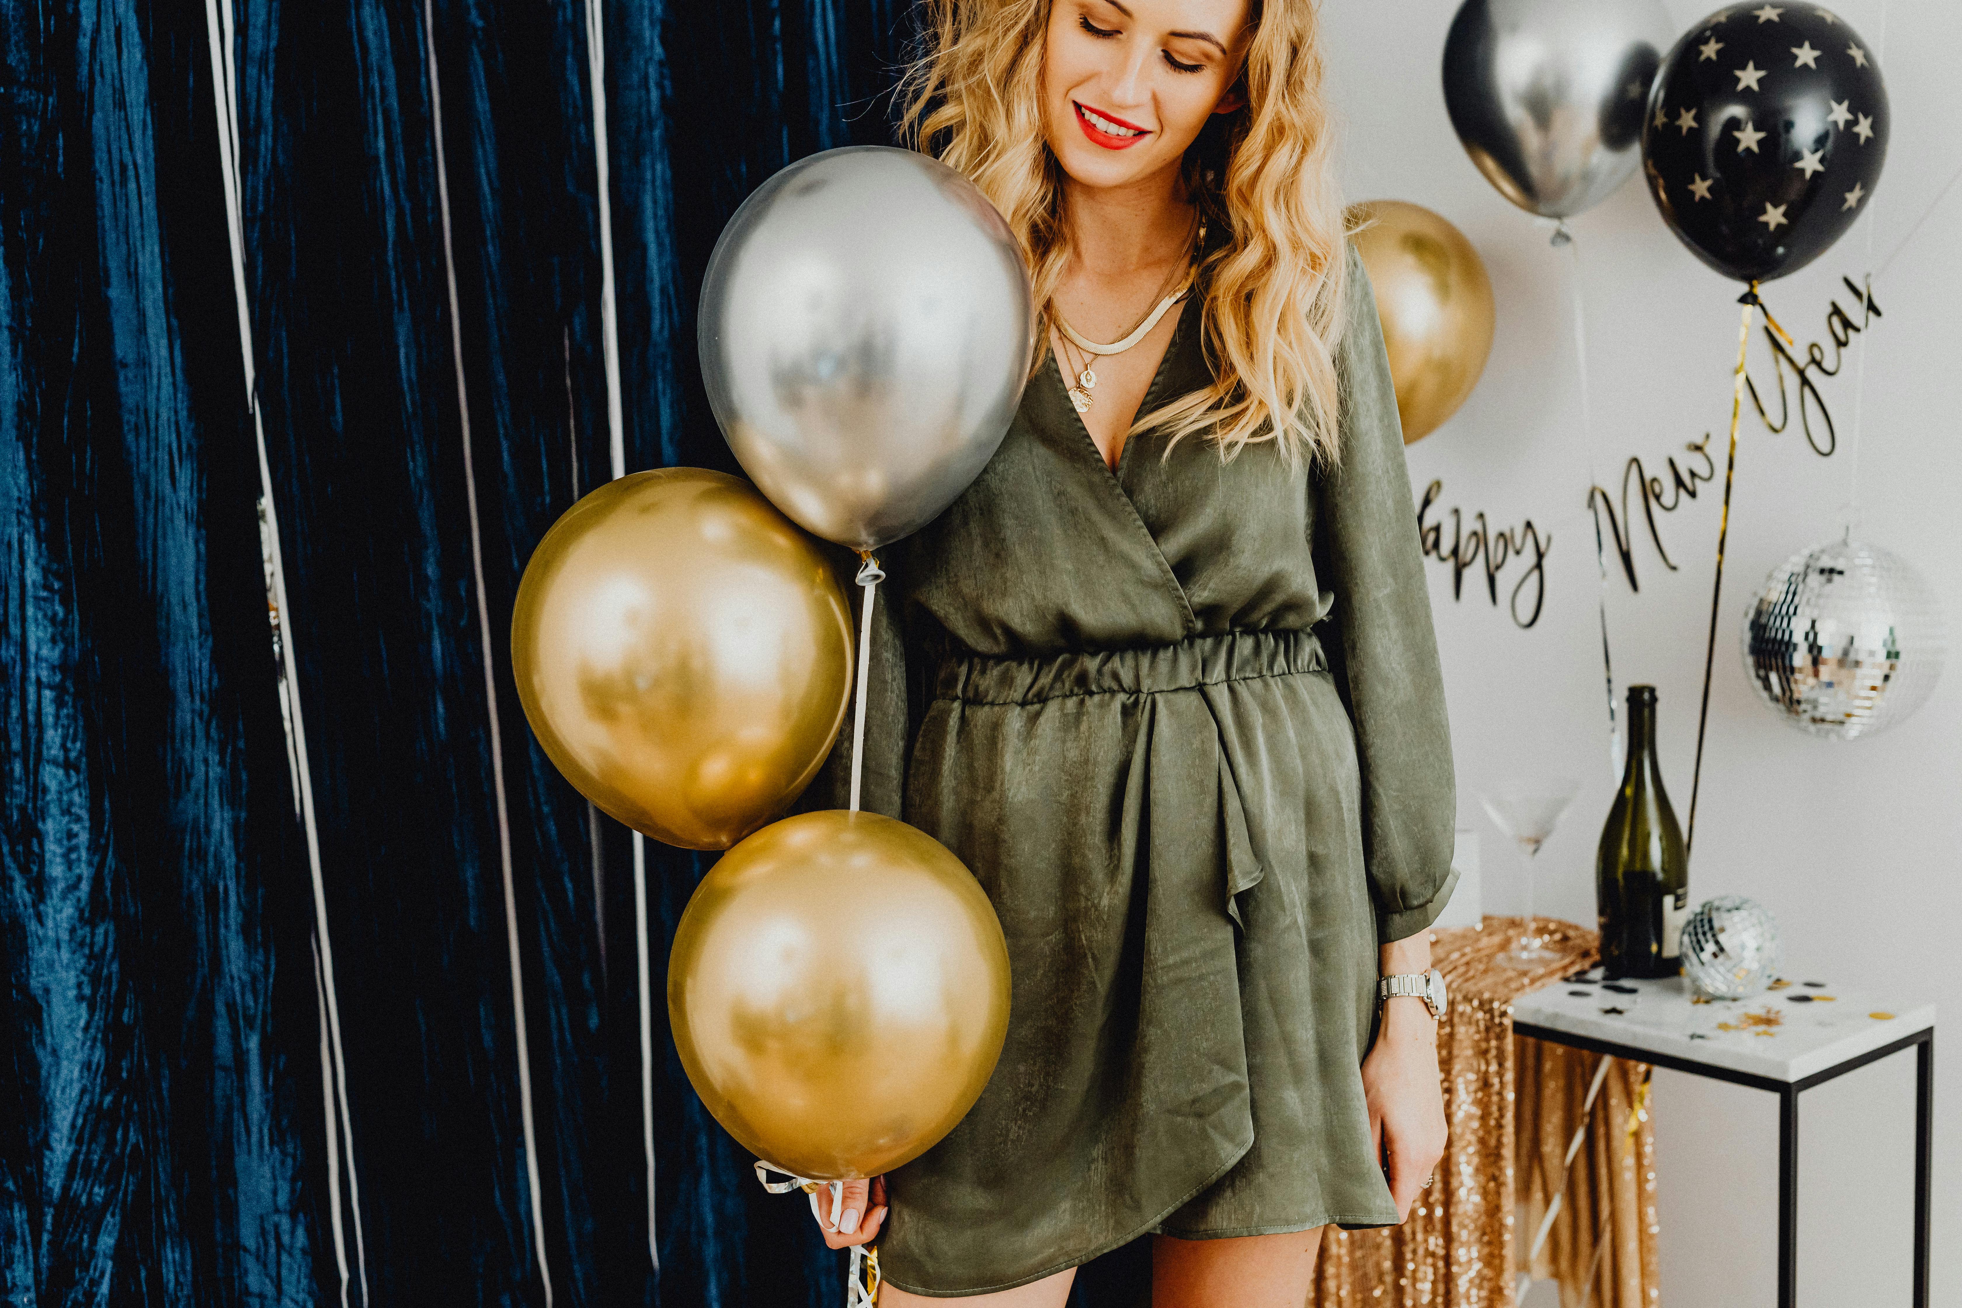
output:
{"label": "white wall behind the Happy New Year lettering", "polygon": [[[1885,0],[1838,14],[1882,47]],[[1687,25],[1711,6],[1668,0]],[[1546,612],[1521,631],[1483,598],[1481,573],[1452,602],[1432,563],[1458,753],[1460,822],[1485,833],[1485,906],[1517,912],[1511,847],[1477,806],[1479,780],[1507,771],[1581,780],[1566,828],[1540,855],[1540,906],[1593,922],[1593,843],[1613,790],[1595,618],[1595,557],[1568,316],[1570,263],[1546,227],[1499,198],[1452,135],[1438,82],[1454,0],[1324,0],[1334,98],[1346,120],[1354,200],[1438,210],[1479,247],[1499,304],[1485,378],[1466,408],[1411,449],[1411,482],[1444,480],[1444,504],[1495,524],[1552,531]],[[1874,200],[1876,263],[1907,235],[1962,165],[1962,6],[1893,0],[1884,73],[1893,104],[1887,171]],[[1619,486],[1628,455],[1664,457],[1707,431],[1721,449],[1736,351],[1738,286],[1703,269],[1662,226],[1640,182],[1574,222],[1579,235],[1593,378],[1593,453]],[[1866,229],[1766,296],[1801,343],[1825,335],[1840,275],[1860,278]],[[1850,306],[1844,288],[1842,306]],[[1913,561],[1962,637],[1962,186],[1876,280],[1885,322],[1868,359],[1862,449],[1866,535]],[[1754,373],[1768,377],[1762,345]],[[1962,926],[1962,651],[1919,716],[1876,739],[1819,741],[1762,708],[1738,659],[1746,596],[1772,567],[1838,531],[1848,500],[1852,369],[1823,382],[1840,453],[1770,435],[1746,406],[1730,518],[1717,677],[1691,900],[1750,894],[1778,914],[1787,973],[1885,992],[1931,992]],[[1613,478],[1613,480],[1609,480]],[[1640,594],[1619,571],[1609,590],[1619,684],[1662,696],[1662,763],[1678,814],[1689,802],[1717,537],[1719,486],[1664,516],[1681,571],[1646,537]],[[1511,573],[1517,575],[1513,565]],[[1473,594],[1473,582],[1479,588]],[[1505,586],[1501,588],[1501,598]],[[1958,639],[1962,645],[1962,639]],[[1958,1012],[1956,1016],[1962,1016]],[[1950,1020],[1956,1020],[1952,1016]],[[1935,1145],[1935,1302],[1962,1302],[1962,1039],[1940,1041]],[[1907,1059],[1852,1075],[1805,1100],[1801,1302],[1909,1302],[1913,1075]],[[1662,1294],[1670,1308],[1776,1302],[1776,1100],[1664,1073],[1658,1079]]]}

